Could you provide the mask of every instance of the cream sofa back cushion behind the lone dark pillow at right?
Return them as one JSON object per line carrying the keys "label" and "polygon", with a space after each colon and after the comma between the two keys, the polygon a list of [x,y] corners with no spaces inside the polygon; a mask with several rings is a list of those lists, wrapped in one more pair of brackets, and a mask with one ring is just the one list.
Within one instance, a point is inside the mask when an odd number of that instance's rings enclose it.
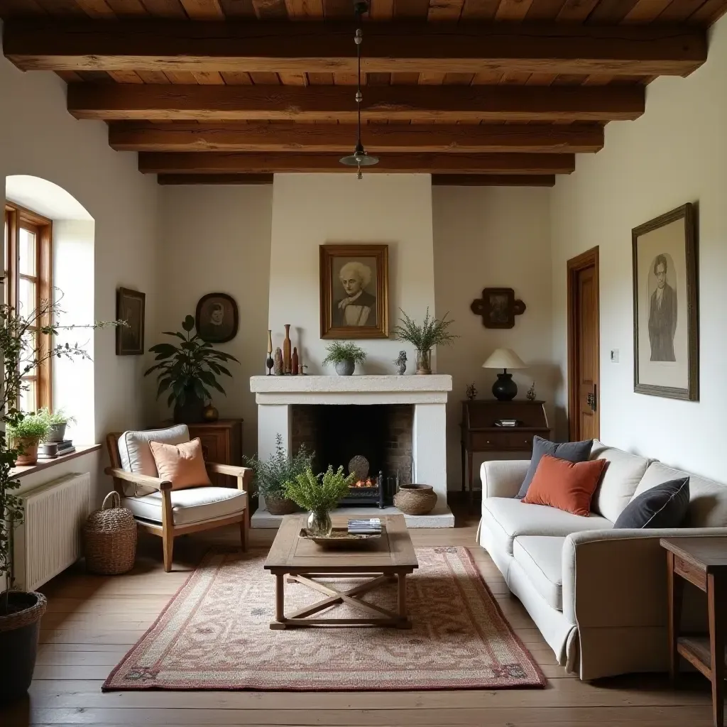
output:
{"label": "cream sofa back cushion behind the lone dark pillow at right", "polygon": [[654,462],[643,475],[634,493],[642,492],[664,482],[683,477],[689,478],[689,509],[683,526],[687,528],[724,528],[727,527],[727,485],[690,475],[682,470]]}

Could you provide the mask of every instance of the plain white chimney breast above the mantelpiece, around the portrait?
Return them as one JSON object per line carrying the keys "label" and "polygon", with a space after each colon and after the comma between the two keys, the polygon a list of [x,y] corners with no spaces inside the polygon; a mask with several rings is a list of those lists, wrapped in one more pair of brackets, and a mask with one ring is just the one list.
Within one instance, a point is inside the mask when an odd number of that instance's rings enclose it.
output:
{"label": "plain white chimney breast above the mantelpiece, around the portrait", "polygon": [[[282,345],[284,324],[291,324],[293,345],[302,348],[309,374],[333,373],[321,368],[326,341],[318,304],[318,246],[329,243],[388,244],[390,328],[399,308],[413,318],[424,318],[427,306],[434,313],[430,175],[275,175],[269,327],[275,347]],[[414,371],[414,350],[393,337],[357,343],[368,353],[357,373],[393,374],[402,349]]]}

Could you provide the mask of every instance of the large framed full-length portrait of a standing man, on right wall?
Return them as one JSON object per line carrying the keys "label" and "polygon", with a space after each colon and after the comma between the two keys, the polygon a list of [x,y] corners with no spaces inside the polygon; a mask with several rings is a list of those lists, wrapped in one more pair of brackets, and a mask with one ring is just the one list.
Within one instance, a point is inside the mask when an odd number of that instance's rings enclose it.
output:
{"label": "large framed full-length portrait of a standing man, on right wall", "polygon": [[[653,251],[641,252],[640,238],[648,233],[671,225],[673,222],[683,220],[683,260],[684,265],[675,262],[668,252],[659,252],[653,260]],[[631,230],[632,249],[632,284],[633,284],[633,316],[634,316],[634,391],[640,394],[664,396],[667,398],[699,401],[699,308],[696,273],[696,215],[693,204],[684,204],[671,212],[662,214],[654,220]],[[680,250],[681,252],[681,250]],[[648,310],[639,309],[639,300],[643,300],[644,291],[640,284],[648,285],[648,280],[640,281],[639,265],[644,270],[646,257],[649,258],[648,275],[654,272],[657,279],[656,287],[664,292],[657,298],[657,289],[650,292],[646,289],[648,297]],[[678,260],[682,260],[681,255]],[[672,269],[673,268],[673,269]],[[643,277],[643,276],[642,276]],[[660,280],[660,282],[659,282]],[[672,286],[670,280],[677,281]],[[679,302],[679,298],[683,302]],[[686,304],[686,305],[684,305]],[[658,309],[655,308],[658,306]],[[663,307],[663,312],[662,312]],[[667,310],[667,308],[669,310]],[[686,336],[680,335],[677,340],[677,326],[680,323],[679,310],[686,308]],[[650,350],[640,350],[643,337],[640,336],[640,324],[648,326]],[[641,319],[641,320],[640,320]],[[664,330],[666,329],[666,330]],[[648,357],[648,358],[647,358]],[[686,382],[684,386],[656,384],[653,381],[642,380],[640,361],[651,361],[657,364],[678,363],[686,358]]]}

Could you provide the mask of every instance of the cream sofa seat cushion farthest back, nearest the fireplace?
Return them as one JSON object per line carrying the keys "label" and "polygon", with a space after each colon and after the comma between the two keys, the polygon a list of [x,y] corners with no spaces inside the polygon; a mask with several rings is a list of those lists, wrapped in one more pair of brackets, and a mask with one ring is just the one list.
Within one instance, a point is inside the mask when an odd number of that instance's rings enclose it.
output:
{"label": "cream sofa seat cushion farthest back, nearest the fireplace", "polygon": [[527,505],[515,497],[486,497],[482,501],[482,527],[489,528],[497,546],[513,555],[518,535],[565,537],[581,530],[611,529],[614,523],[593,513],[588,518],[545,505]]}

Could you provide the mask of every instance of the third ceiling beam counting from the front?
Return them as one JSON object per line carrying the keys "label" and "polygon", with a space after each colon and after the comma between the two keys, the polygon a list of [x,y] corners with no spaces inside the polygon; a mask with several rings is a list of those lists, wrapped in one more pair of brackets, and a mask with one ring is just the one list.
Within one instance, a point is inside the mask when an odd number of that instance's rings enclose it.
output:
{"label": "third ceiling beam counting from the front", "polygon": [[[369,151],[593,152],[603,148],[600,124],[368,124]],[[119,151],[305,151],[353,148],[356,128],[345,124],[196,124],[120,121],[108,131]]]}

